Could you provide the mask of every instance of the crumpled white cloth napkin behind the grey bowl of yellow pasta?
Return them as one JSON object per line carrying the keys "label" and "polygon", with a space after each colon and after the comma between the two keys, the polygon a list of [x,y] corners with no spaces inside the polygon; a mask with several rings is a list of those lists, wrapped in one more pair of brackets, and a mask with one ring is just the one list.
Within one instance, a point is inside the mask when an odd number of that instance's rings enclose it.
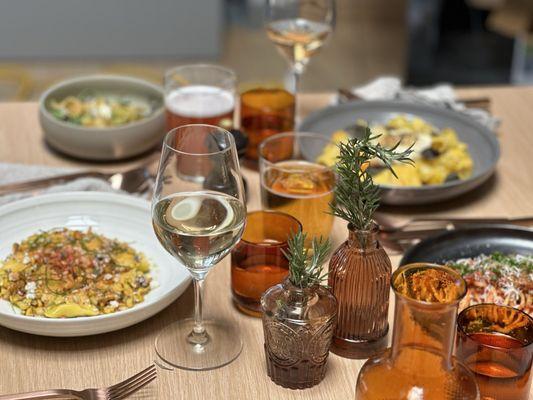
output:
{"label": "crumpled white cloth napkin behind the grey bowl of yellow pasta", "polygon": [[[409,89],[404,88],[401,80],[396,77],[381,77],[364,86],[354,87],[351,91],[363,100],[403,100],[455,110],[475,119],[493,132],[500,126],[500,120],[487,111],[467,108],[459,102],[453,87],[448,84]],[[339,98],[337,97],[335,101],[339,102]]]}

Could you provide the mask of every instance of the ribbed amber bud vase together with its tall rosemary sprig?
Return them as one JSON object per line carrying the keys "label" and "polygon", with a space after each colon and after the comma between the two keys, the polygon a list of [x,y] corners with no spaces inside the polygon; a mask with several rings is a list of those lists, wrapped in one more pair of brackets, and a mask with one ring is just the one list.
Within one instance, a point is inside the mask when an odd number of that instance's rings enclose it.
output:
{"label": "ribbed amber bud vase together with its tall rosemary sprig", "polygon": [[361,137],[339,145],[335,202],[330,204],[331,213],[346,220],[349,229],[348,239],[331,256],[328,273],[339,305],[331,350],[348,358],[369,358],[384,350],[389,330],[392,265],[376,237],[373,217],[380,192],[368,170],[370,161],[380,160],[393,174],[393,163],[412,163],[410,148],[386,149],[378,138],[366,128]]}

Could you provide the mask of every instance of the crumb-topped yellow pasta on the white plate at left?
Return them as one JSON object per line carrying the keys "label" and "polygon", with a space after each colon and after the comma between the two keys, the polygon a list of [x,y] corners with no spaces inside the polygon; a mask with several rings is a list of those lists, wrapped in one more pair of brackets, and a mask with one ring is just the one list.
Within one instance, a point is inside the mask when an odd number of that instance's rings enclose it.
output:
{"label": "crumb-topped yellow pasta on the white plate at left", "polygon": [[0,262],[0,298],[23,315],[70,318],[126,310],[150,291],[150,264],[128,244],[54,229],[13,245]]}

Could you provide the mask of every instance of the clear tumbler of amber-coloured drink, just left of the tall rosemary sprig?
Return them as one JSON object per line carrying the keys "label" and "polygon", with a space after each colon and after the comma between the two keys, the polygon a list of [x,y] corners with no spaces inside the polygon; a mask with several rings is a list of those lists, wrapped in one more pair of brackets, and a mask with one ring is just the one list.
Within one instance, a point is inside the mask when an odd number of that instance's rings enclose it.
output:
{"label": "clear tumbler of amber-coloured drink, just left of the tall rosemary sprig", "polygon": [[259,146],[261,200],[264,209],[295,217],[308,234],[328,237],[333,226],[335,173],[316,162],[329,139],[315,133],[280,133]]}

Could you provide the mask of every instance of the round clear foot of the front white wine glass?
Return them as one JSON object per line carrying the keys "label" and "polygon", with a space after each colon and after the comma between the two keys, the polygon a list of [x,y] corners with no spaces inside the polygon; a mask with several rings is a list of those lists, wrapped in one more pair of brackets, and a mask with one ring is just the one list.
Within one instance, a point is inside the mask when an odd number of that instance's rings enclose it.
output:
{"label": "round clear foot of the front white wine glass", "polygon": [[205,371],[223,367],[241,354],[241,335],[234,324],[207,320],[203,325],[208,334],[203,345],[188,340],[194,326],[192,318],[167,326],[155,341],[157,355],[173,367]]}

